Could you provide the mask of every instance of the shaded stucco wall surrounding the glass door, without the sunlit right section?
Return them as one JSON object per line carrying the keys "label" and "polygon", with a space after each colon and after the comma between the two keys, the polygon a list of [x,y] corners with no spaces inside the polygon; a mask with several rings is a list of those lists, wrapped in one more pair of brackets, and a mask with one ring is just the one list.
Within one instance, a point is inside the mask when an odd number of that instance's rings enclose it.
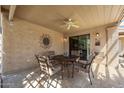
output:
{"label": "shaded stucco wall surrounding the glass door, without the sunlit right section", "polygon": [[[96,33],[99,33],[99,37],[96,37]],[[106,53],[106,33],[105,33],[104,27],[100,27],[97,29],[79,31],[79,32],[72,33],[72,34],[68,35],[68,37],[77,36],[77,35],[85,35],[85,34],[90,34],[90,50],[102,52],[103,55],[105,55],[105,53]],[[100,46],[95,46],[95,39],[96,38],[99,38]],[[68,43],[69,43],[69,41],[66,42],[67,48],[69,48]],[[67,51],[67,52],[69,52],[69,51]]]}

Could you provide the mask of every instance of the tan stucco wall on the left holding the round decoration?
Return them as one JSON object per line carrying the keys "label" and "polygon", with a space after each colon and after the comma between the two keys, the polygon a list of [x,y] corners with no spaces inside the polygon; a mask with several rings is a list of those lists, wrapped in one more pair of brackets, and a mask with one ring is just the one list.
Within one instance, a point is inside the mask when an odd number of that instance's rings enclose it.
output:
{"label": "tan stucco wall on the left holding the round decoration", "polygon": [[[43,34],[51,36],[50,49],[40,46]],[[17,18],[10,25],[7,17],[3,17],[3,73],[35,67],[34,54],[49,50],[63,53],[63,34]]]}

